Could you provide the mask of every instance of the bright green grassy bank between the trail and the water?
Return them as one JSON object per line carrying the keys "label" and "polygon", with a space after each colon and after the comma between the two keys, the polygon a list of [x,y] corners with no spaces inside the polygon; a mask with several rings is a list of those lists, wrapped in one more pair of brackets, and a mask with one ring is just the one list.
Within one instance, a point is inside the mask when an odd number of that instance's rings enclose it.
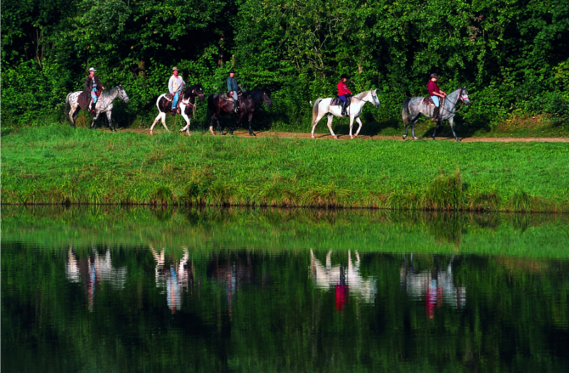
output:
{"label": "bright green grassy bank between the trail and the water", "polygon": [[569,144],[2,129],[1,202],[569,211]]}

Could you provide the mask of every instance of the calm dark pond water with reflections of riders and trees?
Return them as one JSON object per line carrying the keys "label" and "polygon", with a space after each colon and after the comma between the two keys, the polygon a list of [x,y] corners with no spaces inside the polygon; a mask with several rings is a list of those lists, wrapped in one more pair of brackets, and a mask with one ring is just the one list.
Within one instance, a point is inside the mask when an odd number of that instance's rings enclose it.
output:
{"label": "calm dark pond water with reflections of riders and trees", "polygon": [[2,210],[2,372],[563,372],[567,217]]}

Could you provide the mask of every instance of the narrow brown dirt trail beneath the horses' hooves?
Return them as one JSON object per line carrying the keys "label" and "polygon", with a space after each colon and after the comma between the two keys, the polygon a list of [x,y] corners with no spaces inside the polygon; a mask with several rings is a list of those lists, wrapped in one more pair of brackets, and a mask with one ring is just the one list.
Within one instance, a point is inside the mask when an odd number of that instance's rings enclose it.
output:
{"label": "narrow brown dirt trail beneath the horses' hooves", "polygon": [[[122,129],[121,131],[129,131],[129,132],[136,132],[138,134],[150,134],[148,129]],[[155,130],[155,134],[159,134],[164,129]],[[248,131],[235,131],[233,132],[235,136],[241,137],[250,137]],[[275,132],[275,131],[259,131],[255,132],[257,137],[282,137],[282,138],[289,138],[289,139],[309,139],[309,133],[302,133],[302,132]],[[216,133],[215,136],[219,136]],[[224,136],[229,136],[225,134]],[[314,134],[316,139],[324,139],[324,140],[334,140],[330,134]],[[350,136],[348,134],[338,135],[340,140],[349,140]],[[399,140],[403,141],[401,136],[367,136],[367,135],[360,135],[357,139],[364,139],[364,140]],[[441,141],[454,141],[452,137],[442,136],[437,137],[437,140]],[[430,138],[423,138],[422,141],[430,141]],[[462,142],[530,142],[530,141],[538,141],[538,142],[569,142],[569,137],[465,137],[461,138]],[[405,141],[413,141],[412,138],[408,138]]]}

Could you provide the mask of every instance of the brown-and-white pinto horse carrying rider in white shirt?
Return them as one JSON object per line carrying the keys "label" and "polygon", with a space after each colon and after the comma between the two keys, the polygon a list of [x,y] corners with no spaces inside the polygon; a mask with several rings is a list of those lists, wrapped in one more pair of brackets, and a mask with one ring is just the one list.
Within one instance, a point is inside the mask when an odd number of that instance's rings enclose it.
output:
{"label": "brown-and-white pinto horse carrying rider in white shirt", "polygon": [[[190,135],[190,116],[193,114],[193,112],[196,111],[196,98],[198,97],[201,101],[203,101],[203,87],[201,84],[186,87],[184,92],[180,93],[179,108],[182,117],[186,121],[186,126],[184,128],[181,128],[180,132],[186,131],[186,134],[188,134],[188,136]],[[158,108],[158,116],[156,119],[154,119],[152,125],[150,126],[150,134],[153,133],[154,125],[156,125],[158,119],[161,119],[162,126],[164,126],[166,131],[170,131],[166,126],[166,113],[171,112],[172,99],[167,98],[166,93],[159,95],[155,99],[156,107]],[[154,98],[151,100],[151,102],[154,102]]]}

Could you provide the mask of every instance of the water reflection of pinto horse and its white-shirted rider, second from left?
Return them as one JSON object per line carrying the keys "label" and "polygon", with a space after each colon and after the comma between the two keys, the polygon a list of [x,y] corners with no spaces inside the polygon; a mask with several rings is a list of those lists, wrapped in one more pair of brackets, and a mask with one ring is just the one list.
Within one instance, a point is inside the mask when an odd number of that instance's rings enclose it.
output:
{"label": "water reflection of pinto horse and its white-shirted rider, second from left", "polygon": [[193,266],[188,266],[188,249],[184,248],[184,256],[176,265],[166,266],[164,249],[158,254],[154,247],[150,248],[154,260],[156,260],[156,287],[166,291],[166,301],[172,312],[180,310],[182,306],[182,290],[188,288],[188,281],[193,279]]}

